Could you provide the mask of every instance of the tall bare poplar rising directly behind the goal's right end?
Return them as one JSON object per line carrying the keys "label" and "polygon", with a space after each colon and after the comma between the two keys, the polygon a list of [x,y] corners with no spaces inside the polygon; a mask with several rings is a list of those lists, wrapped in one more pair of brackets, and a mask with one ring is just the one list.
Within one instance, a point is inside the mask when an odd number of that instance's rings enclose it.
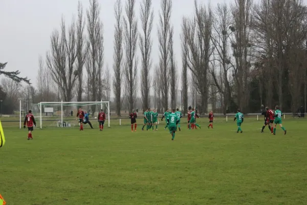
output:
{"label": "tall bare poplar rising directly behind the goal's right end", "polygon": [[86,60],[86,71],[89,82],[91,99],[101,100],[102,68],[103,68],[103,24],[100,20],[98,0],[90,0],[90,9],[86,10],[87,35],[89,52]]}

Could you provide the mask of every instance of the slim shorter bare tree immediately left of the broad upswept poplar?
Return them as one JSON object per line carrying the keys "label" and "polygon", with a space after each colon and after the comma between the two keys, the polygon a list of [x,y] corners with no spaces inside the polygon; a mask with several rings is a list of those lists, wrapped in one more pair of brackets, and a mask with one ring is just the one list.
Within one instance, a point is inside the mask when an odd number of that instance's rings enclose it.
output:
{"label": "slim shorter bare tree immediately left of the broad upswept poplar", "polygon": [[[184,28],[182,28],[184,29]],[[188,45],[183,33],[181,34],[181,56],[182,56],[182,73],[181,73],[181,90],[183,100],[183,114],[186,115],[188,110]]]}

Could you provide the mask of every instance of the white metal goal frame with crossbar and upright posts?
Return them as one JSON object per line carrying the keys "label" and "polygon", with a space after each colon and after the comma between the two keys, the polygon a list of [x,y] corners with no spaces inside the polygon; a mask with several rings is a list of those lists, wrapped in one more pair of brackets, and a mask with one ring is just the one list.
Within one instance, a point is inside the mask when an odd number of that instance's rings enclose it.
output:
{"label": "white metal goal frame with crossbar and upright posts", "polygon": [[[42,129],[42,106],[43,105],[60,105],[61,106],[61,126],[63,126],[63,105],[88,105],[88,106],[91,106],[91,105],[99,105],[101,104],[101,109],[103,108],[103,105],[106,105],[107,107],[107,120],[108,120],[108,127],[110,127],[110,106],[109,106],[109,101],[89,101],[89,102],[63,102],[63,101],[60,101],[60,102],[40,102],[38,103],[38,107],[39,107],[39,112],[40,112],[40,129]],[[21,117],[21,114],[20,114],[20,117]]]}

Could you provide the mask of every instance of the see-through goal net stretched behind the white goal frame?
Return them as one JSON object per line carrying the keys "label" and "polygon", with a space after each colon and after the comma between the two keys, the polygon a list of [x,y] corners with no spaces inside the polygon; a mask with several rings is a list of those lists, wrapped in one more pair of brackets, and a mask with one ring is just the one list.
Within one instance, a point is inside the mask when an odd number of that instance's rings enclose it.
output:
{"label": "see-through goal net stretched behind the white goal frame", "polygon": [[[110,113],[108,101],[97,102],[41,102],[32,104],[32,113],[36,120],[36,126],[42,128],[54,127],[78,127],[77,112],[79,108],[84,113],[90,113],[89,120],[93,125],[98,113],[102,109],[106,115],[108,127],[110,127]],[[105,122],[106,123],[106,122]],[[87,127],[89,125],[83,125]]]}

